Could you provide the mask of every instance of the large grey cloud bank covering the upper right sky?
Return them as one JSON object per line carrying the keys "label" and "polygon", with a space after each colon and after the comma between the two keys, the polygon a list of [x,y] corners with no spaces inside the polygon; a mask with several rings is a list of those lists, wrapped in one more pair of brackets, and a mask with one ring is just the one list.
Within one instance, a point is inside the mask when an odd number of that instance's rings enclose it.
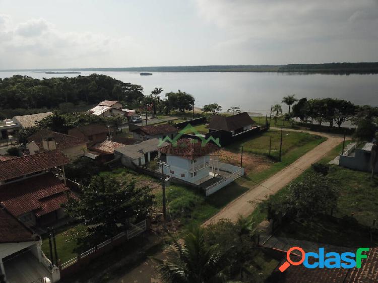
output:
{"label": "large grey cloud bank covering the upper right sky", "polygon": [[[224,38],[214,48],[239,52],[249,62],[378,60],[374,51],[378,47],[376,0],[196,3],[199,15],[223,31]],[[268,60],[258,59],[262,57]]]}

